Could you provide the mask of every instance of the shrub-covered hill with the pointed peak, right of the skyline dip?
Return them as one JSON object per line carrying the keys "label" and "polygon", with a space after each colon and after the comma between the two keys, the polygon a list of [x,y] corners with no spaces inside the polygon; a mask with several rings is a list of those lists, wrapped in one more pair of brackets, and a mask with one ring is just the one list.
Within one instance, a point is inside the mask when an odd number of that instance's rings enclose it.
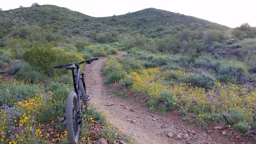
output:
{"label": "shrub-covered hill with the pointed peak, right of the skyline dip", "polygon": [[137,12],[126,13],[124,15],[98,18],[102,23],[123,26],[126,28],[148,28],[156,29],[158,26],[164,26],[166,31],[170,31],[174,26],[185,25],[190,27],[191,24],[200,24],[201,26],[210,27],[211,25],[218,28],[226,28],[217,23],[208,20],[199,19],[193,16],[187,16],[175,12],[147,8]]}

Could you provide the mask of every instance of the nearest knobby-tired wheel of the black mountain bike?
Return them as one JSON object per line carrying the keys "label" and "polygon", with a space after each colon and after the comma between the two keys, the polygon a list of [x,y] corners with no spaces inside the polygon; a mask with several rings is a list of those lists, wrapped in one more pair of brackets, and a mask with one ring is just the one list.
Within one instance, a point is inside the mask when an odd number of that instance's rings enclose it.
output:
{"label": "nearest knobby-tired wheel of the black mountain bike", "polygon": [[79,114],[77,114],[79,111],[78,102],[76,92],[69,92],[66,108],[66,130],[70,144],[77,144],[79,139],[80,125],[77,123],[79,117]]}

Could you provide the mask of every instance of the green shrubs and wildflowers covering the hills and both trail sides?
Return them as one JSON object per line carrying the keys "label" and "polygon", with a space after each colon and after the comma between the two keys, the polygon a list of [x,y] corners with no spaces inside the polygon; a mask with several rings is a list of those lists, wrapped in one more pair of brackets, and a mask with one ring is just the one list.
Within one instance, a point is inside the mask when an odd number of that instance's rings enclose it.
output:
{"label": "green shrubs and wildflowers covering the hills and both trail sides", "polygon": [[[68,143],[63,119],[72,79],[53,66],[95,57],[108,57],[104,84],[142,93],[148,110],[179,111],[203,130],[219,124],[249,134],[256,130],[255,35],[248,23],[232,29],[153,8],[103,18],[38,3],[0,8],[1,141]],[[118,50],[128,53],[113,56]],[[80,142],[91,140],[96,122],[113,142],[118,130],[94,105],[84,111]]]}

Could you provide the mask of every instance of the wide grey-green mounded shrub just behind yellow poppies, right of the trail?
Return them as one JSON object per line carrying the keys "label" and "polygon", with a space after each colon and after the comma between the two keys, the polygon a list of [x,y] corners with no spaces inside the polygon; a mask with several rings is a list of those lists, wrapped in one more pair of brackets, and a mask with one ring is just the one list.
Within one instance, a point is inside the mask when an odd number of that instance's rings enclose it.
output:
{"label": "wide grey-green mounded shrub just behind yellow poppies, right of the trail", "polygon": [[190,83],[191,85],[197,85],[199,87],[208,89],[216,84],[216,80],[213,76],[206,73],[201,74],[188,74],[179,78],[182,83]]}

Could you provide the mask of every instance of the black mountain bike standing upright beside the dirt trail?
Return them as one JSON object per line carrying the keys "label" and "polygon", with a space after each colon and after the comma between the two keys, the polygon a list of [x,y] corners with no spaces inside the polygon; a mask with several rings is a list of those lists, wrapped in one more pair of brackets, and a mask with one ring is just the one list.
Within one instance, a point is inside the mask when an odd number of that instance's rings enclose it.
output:
{"label": "black mountain bike standing upright beside the dirt trail", "polygon": [[80,124],[82,123],[82,111],[87,107],[88,101],[90,100],[90,95],[86,94],[84,72],[80,72],[79,65],[90,64],[93,60],[98,60],[98,58],[54,67],[66,68],[72,71],[74,91],[68,94],[66,120],[64,122],[70,144],[78,143]]}

